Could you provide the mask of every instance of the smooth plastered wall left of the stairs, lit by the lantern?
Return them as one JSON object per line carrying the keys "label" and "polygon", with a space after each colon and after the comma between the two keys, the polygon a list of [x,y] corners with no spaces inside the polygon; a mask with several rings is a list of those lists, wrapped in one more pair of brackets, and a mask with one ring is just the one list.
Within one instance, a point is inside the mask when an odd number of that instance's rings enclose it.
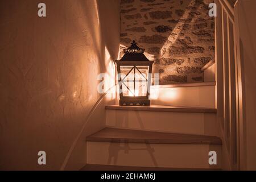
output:
{"label": "smooth plastered wall left of the stairs, lit by the lantern", "polygon": [[[0,169],[60,169],[118,56],[118,0],[45,0],[44,18],[38,3],[0,2]],[[88,133],[104,126],[101,111]]]}

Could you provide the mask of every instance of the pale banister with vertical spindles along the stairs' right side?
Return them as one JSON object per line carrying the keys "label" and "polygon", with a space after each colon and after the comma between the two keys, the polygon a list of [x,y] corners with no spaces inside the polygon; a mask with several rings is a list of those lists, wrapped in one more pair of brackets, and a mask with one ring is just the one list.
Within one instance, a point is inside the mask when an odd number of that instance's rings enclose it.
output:
{"label": "pale banister with vertical spindles along the stairs' right side", "polygon": [[[227,0],[216,0],[216,107],[224,148],[231,169],[238,169],[238,69],[236,22],[233,5]],[[233,2],[234,3],[234,2]]]}

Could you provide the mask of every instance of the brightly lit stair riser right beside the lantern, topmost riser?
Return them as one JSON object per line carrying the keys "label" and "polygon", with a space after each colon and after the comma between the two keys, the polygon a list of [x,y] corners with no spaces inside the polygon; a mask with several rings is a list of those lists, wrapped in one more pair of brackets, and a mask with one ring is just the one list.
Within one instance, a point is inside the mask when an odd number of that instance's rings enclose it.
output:
{"label": "brightly lit stair riser right beside the lantern, topmost riser", "polygon": [[159,88],[151,104],[215,108],[215,86],[193,86],[182,88]]}

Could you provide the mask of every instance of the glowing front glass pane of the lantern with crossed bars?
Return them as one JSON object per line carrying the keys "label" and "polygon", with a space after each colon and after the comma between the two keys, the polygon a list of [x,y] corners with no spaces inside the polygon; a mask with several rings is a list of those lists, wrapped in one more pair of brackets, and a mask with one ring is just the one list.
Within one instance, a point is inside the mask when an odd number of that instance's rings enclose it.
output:
{"label": "glowing front glass pane of the lantern with crossed bars", "polygon": [[147,96],[148,66],[121,66],[124,97]]}

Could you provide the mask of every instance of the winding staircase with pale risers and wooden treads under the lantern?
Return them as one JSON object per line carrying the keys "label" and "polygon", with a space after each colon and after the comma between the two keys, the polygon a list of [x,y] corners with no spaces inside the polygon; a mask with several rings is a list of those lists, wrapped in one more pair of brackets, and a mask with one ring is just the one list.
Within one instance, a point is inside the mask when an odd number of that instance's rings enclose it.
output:
{"label": "winding staircase with pale risers and wooden treads under the lantern", "polygon": [[[180,96],[171,106],[171,100],[162,97],[174,89],[179,89]],[[106,127],[86,138],[88,164],[82,170],[221,169],[215,82],[159,90],[151,106],[105,107]],[[189,93],[193,99],[186,101]],[[184,106],[186,102],[189,106]],[[209,151],[217,152],[216,165],[209,164]]]}

